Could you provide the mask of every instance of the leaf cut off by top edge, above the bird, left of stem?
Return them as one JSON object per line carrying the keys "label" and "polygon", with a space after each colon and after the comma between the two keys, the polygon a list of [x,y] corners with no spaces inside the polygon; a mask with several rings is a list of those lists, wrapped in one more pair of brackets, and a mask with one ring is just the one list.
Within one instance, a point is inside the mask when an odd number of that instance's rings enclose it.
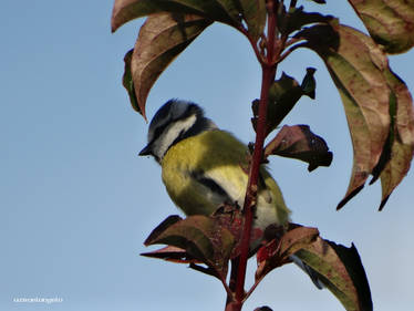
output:
{"label": "leaf cut off by top edge, above the bird, left of stem", "polygon": [[112,31],[133,19],[162,12],[197,14],[236,28],[240,24],[234,0],[115,0]]}

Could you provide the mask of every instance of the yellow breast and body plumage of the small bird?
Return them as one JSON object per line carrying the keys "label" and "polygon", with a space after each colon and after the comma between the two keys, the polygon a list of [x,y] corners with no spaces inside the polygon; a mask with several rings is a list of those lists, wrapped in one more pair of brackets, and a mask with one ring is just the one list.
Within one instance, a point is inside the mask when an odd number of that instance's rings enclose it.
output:
{"label": "yellow breast and body plumage of the small bird", "polygon": [[[248,175],[248,149],[230,133],[214,129],[192,136],[172,146],[162,160],[163,182],[173,201],[186,215],[210,215],[222,197],[216,195],[194,178],[203,174],[217,184],[242,206]],[[263,167],[266,189],[259,191],[258,226],[288,220],[289,210],[276,182]]]}

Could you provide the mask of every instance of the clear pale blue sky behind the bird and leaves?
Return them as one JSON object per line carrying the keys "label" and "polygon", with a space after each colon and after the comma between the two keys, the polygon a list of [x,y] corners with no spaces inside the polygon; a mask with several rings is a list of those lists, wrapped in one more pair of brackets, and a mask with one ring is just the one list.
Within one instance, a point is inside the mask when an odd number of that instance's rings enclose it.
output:
{"label": "clear pale blue sky behind the bird and leaves", "polygon": [[[361,25],[346,1],[328,2],[327,12]],[[111,34],[112,6],[102,0],[2,0],[0,310],[224,309],[217,280],[139,256],[149,250],[143,241],[151,230],[177,210],[159,167],[137,156],[147,124],[131,108],[121,84],[123,56],[143,20]],[[413,51],[391,58],[411,90],[413,60]],[[328,142],[333,164],[309,174],[303,163],[275,158],[270,169],[296,222],[315,226],[339,243],[355,243],[375,310],[412,309],[414,174],[382,212],[379,184],[335,211],[350,178],[351,142],[338,92],[317,55],[298,51],[279,74],[283,70],[301,81],[307,66],[318,69],[317,100],[301,100],[284,123],[310,124]],[[162,75],[149,94],[147,115],[170,97],[193,100],[247,143],[253,139],[250,102],[259,87],[259,65],[247,40],[214,24]],[[249,276],[251,283],[252,271]],[[35,297],[63,301],[13,302]],[[263,304],[343,310],[291,265],[268,276],[245,310]]]}

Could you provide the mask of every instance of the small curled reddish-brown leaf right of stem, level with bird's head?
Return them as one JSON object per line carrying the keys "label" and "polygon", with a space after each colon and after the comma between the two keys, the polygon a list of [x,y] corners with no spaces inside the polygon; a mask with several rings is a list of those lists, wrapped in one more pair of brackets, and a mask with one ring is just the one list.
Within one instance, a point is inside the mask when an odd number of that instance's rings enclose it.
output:
{"label": "small curled reddish-brown leaf right of stem, level with bird's head", "polygon": [[265,158],[271,154],[307,162],[309,172],[332,163],[332,153],[327,143],[313,134],[308,125],[284,125],[265,147]]}

